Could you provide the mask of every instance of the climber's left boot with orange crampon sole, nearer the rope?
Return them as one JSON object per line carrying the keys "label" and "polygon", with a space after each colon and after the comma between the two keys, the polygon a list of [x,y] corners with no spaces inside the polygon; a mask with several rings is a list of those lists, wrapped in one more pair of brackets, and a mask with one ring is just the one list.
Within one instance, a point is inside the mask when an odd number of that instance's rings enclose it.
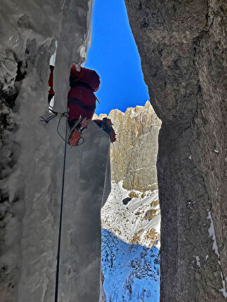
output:
{"label": "climber's left boot with orange crampon sole, nearer the rope", "polygon": [[70,133],[68,135],[67,142],[71,146],[77,146],[84,143],[84,141],[80,142],[82,138],[82,133],[84,129],[89,126],[89,119],[86,117],[78,119],[75,124],[72,126]]}

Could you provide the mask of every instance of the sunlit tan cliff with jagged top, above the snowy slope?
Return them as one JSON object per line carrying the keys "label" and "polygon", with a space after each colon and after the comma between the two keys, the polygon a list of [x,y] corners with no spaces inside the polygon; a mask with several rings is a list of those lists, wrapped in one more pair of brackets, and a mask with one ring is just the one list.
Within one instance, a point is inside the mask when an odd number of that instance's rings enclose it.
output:
{"label": "sunlit tan cliff with jagged top, above the snowy slope", "polygon": [[[106,117],[94,115],[94,119]],[[127,190],[157,189],[157,136],[161,122],[149,102],[129,107],[126,112],[111,110],[109,116],[117,133],[111,149],[112,180],[123,180]],[[148,156],[150,152],[150,156]]]}

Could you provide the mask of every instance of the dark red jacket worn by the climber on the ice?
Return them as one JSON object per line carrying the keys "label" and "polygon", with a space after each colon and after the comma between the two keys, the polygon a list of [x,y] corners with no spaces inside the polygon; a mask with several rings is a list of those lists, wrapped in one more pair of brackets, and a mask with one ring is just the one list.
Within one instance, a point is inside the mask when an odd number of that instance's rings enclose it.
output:
{"label": "dark red jacket worn by the climber on the ice", "polygon": [[81,67],[77,72],[75,65],[72,65],[70,72],[70,91],[67,96],[67,107],[69,108],[69,122],[72,119],[87,117],[92,119],[96,110],[96,96],[100,85],[98,74],[94,70]]}

